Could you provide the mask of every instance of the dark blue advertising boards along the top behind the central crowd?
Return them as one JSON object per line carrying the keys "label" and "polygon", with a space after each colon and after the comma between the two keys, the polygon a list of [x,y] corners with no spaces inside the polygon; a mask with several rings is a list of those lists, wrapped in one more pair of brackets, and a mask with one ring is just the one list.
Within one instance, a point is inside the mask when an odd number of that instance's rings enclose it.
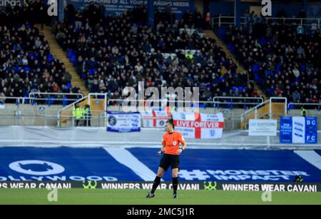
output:
{"label": "dark blue advertising boards along the top behind the central crowd", "polygon": [[[98,5],[101,0],[94,0],[93,3]],[[85,7],[91,1],[88,0],[71,0],[76,9]],[[134,7],[145,5],[147,8],[148,1],[146,0],[103,0],[103,6],[106,8],[106,14],[120,15],[123,11],[128,11]],[[171,11],[178,19],[183,16],[185,11],[193,11],[193,0],[160,0],[154,1],[155,9],[163,10],[170,5]]]}

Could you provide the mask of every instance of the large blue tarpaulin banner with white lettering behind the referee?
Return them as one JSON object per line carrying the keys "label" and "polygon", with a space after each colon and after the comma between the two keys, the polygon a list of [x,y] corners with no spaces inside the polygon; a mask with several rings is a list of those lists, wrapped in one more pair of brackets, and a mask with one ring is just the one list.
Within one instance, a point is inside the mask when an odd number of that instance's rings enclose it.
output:
{"label": "large blue tarpaulin banner with white lettering behind the referee", "polygon": [[[157,148],[0,148],[0,182],[153,181]],[[321,182],[321,151],[188,149],[180,156],[180,181],[287,182],[302,175]],[[313,161],[309,156],[313,155]],[[308,162],[307,160],[308,159]],[[311,162],[311,163],[310,163]],[[171,182],[168,170],[163,180]]]}

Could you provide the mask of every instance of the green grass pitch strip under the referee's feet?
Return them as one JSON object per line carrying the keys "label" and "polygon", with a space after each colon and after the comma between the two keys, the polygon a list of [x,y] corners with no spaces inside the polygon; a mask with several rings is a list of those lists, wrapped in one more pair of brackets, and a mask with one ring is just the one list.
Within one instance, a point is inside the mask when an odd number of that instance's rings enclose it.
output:
{"label": "green grass pitch strip under the referee's feet", "polygon": [[157,190],[147,199],[148,190],[61,189],[58,201],[49,202],[46,189],[0,189],[0,204],[120,204],[120,205],[212,205],[212,204],[319,204],[321,193],[272,192],[272,201],[263,202],[262,192],[223,190]]}

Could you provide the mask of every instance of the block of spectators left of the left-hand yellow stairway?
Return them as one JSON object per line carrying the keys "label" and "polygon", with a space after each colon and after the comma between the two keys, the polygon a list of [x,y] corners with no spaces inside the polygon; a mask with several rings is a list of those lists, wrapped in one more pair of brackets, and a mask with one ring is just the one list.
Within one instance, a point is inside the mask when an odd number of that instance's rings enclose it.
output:
{"label": "block of spectators left of the left-hand yellow stairway", "polygon": [[71,74],[51,54],[44,35],[39,34],[39,29],[26,19],[29,16],[25,17],[23,11],[7,8],[4,12],[7,19],[0,19],[0,96],[27,97],[31,92],[79,93],[79,88],[71,87]]}

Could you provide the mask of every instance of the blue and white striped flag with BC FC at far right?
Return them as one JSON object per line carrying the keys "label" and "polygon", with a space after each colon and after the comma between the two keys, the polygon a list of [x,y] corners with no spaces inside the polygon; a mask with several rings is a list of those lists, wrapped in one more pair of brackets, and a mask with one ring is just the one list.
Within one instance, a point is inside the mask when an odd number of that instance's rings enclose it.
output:
{"label": "blue and white striped flag with BC FC at far right", "polygon": [[280,143],[317,143],[317,118],[281,117]]}

